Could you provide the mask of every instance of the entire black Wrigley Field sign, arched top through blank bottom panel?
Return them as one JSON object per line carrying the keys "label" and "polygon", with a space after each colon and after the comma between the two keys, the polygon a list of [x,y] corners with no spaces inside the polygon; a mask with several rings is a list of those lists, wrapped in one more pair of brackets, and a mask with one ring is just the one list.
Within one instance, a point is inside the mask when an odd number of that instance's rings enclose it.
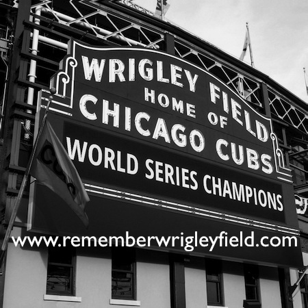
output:
{"label": "entire black Wrigley Field sign, arched top through blank bottom panel", "polygon": [[[75,41],[69,50],[51,82],[57,92],[49,120],[90,194],[90,227],[36,185],[32,229],[95,236],[298,235],[291,172],[272,122],[235,88],[161,51]],[[293,248],[220,247],[215,255],[296,266],[300,248]]]}

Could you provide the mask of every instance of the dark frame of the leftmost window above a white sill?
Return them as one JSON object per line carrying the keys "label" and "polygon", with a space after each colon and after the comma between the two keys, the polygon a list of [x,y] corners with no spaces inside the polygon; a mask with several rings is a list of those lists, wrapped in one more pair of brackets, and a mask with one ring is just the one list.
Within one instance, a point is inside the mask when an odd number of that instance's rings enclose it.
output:
{"label": "dark frame of the leftmost window above a white sill", "polygon": [[[51,251],[52,250],[62,250],[62,252],[66,252],[66,253],[70,253],[70,264],[66,264],[66,263],[62,263],[62,262],[54,262],[54,261],[50,261],[50,257],[51,257]],[[69,285],[70,287],[68,288],[68,290],[62,291],[62,290],[51,290],[48,287],[49,284],[49,270],[50,270],[50,266],[59,266],[62,268],[69,268]],[[49,247],[48,250],[48,261],[47,261],[47,280],[46,280],[46,294],[47,295],[57,295],[57,296],[75,296],[76,294],[76,251],[75,248],[73,248],[72,246],[65,246],[65,247]]]}

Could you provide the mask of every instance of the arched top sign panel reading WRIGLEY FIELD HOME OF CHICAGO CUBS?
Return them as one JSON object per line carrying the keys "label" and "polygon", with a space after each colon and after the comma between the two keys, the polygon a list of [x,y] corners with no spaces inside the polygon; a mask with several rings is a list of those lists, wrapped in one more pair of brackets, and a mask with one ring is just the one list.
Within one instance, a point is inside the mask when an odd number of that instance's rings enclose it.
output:
{"label": "arched top sign panel reading WRIGLEY FIELD HOME OF CHICAGO CUBS", "polygon": [[270,118],[177,57],[73,42],[53,85],[57,108],[81,123],[290,181]]}

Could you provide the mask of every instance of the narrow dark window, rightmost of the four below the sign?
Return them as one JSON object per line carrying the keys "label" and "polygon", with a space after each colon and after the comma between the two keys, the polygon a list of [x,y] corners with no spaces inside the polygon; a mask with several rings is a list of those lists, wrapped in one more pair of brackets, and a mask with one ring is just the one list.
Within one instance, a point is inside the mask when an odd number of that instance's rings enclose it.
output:
{"label": "narrow dark window, rightmost of the four below the sign", "polygon": [[244,267],[246,300],[259,302],[259,272],[257,266]]}

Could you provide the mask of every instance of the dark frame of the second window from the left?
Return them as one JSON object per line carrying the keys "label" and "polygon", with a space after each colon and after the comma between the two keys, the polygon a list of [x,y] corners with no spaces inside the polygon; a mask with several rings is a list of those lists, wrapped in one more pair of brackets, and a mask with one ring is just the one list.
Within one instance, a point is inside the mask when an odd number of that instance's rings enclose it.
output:
{"label": "dark frame of the second window from the left", "polygon": [[[120,270],[118,268],[114,268],[115,259],[118,261],[123,257],[129,259],[128,262],[130,264],[129,270]],[[127,294],[119,295],[113,293],[114,272],[131,274],[131,295]],[[112,246],[112,300],[136,300],[136,299],[137,299],[136,250],[135,248],[131,247]]]}

